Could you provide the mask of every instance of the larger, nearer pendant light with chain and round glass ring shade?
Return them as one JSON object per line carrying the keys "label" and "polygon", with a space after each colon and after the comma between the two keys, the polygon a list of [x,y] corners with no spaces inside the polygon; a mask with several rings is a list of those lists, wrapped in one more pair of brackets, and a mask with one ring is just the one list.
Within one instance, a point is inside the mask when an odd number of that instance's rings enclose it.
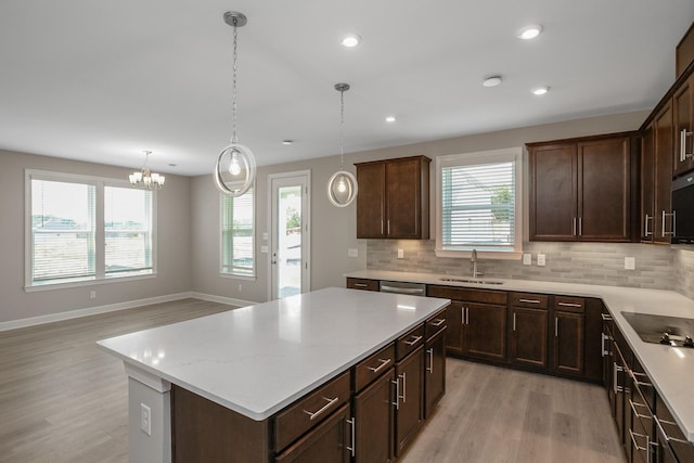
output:
{"label": "larger, nearer pendant light with chain and round glass ring shade", "polygon": [[253,152],[236,139],[236,29],[243,27],[247,18],[243,13],[228,11],[224,13],[224,23],[234,30],[232,134],[231,144],[224,147],[217,158],[215,184],[223,194],[236,197],[247,192],[256,178],[256,159]]}

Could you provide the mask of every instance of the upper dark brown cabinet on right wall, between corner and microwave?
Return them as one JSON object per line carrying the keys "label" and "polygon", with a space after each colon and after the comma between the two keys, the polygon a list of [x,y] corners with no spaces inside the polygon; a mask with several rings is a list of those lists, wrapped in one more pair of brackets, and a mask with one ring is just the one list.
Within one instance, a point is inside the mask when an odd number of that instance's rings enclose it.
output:
{"label": "upper dark brown cabinet on right wall, between corner and microwave", "polygon": [[641,146],[641,241],[669,243],[673,150],[672,105],[667,103],[643,131]]}

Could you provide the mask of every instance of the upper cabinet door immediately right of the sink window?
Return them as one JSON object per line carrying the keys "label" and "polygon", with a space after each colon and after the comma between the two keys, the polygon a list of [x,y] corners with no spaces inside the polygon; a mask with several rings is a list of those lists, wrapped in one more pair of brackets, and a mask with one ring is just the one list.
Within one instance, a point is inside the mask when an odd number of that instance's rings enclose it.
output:
{"label": "upper cabinet door immediately right of the sink window", "polygon": [[576,241],[576,144],[530,149],[530,241]]}

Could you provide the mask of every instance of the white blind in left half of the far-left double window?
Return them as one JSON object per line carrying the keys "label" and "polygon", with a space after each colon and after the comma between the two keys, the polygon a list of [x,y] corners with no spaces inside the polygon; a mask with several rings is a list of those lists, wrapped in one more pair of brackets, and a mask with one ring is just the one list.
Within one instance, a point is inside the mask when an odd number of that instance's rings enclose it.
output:
{"label": "white blind in left half of the far-left double window", "polygon": [[31,283],[95,278],[95,187],[31,179]]}

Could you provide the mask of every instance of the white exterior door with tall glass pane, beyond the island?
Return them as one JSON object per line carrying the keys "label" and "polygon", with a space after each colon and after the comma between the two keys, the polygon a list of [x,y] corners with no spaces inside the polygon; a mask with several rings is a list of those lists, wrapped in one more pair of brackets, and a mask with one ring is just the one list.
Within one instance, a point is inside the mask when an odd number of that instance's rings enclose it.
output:
{"label": "white exterior door with tall glass pane, beyond the island", "polygon": [[281,299],[310,291],[310,172],[272,175],[270,179],[270,296]]}

